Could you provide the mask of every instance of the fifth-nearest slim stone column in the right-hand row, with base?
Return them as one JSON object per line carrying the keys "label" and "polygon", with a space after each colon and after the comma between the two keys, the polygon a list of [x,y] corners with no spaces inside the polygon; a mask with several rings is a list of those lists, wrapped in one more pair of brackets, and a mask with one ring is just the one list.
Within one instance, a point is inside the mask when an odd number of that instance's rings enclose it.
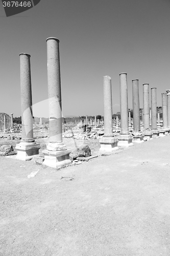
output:
{"label": "fifth-nearest slim stone column in the right-hand row, with base", "polygon": [[151,131],[153,138],[158,138],[159,131],[157,129],[157,102],[156,102],[156,88],[151,88]]}

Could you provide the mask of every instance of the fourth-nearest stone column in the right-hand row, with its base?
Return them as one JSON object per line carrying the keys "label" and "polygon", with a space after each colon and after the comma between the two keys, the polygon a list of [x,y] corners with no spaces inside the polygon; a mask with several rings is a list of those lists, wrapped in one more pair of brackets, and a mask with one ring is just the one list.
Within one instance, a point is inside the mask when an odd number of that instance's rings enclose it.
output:
{"label": "fourth-nearest stone column in the right-hand row, with its base", "polygon": [[150,103],[149,83],[143,83],[143,132],[145,140],[152,139],[153,133],[150,130]]}

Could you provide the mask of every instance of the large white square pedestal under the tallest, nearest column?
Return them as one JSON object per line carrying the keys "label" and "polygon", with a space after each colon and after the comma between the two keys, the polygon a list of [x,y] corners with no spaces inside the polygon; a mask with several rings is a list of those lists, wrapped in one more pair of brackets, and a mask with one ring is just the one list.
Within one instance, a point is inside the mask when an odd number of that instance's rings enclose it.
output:
{"label": "large white square pedestal under the tallest, nearest column", "polygon": [[60,168],[63,166],[67,166],[72,164],[71,160],[69,159],[69,154],[71,150],[63,150],[63,151],[49,151],[43,150],[42,153],[44,154],[44,161],[42,164]]}

